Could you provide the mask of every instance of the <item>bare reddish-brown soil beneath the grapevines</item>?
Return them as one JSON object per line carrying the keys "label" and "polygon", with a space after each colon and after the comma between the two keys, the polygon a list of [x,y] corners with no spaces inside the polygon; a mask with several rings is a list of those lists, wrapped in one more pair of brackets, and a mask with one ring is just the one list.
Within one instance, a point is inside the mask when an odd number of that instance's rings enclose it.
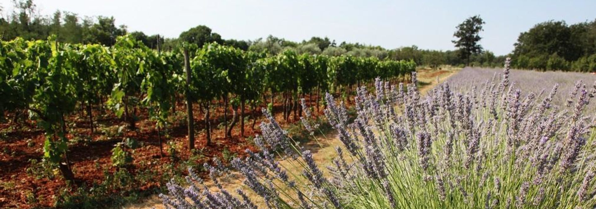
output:
{"label": "bare reddish-brown soil beneath the grapevines", "polygon": [[[307,99],[308,100],[308,99]],[[314,105],[314,100],[312,105]],[[215,106],[212,106],[215,107]],[[252,110],[246,105],[245,116],[251,116]],[[294,116],[290,116],[290,121],[283,119],[281,104],[277,103],[274,106],[275,117],[283,126],[295,122]],[[322,112],[321,107],[321,112]],[[185,106],[179,103],[177,111],[185,111]],[[158,173],[163,173],[163,164],[171,163],[172,158],[167,157],[166,148],[168,141],[174,141],[177,145],[177,156],[179,159],[186,160],[190,156],[188,150],[187,139],[187,125],[185,122],[181,124],[172,125],[169,129],[169,138],[163,137],[164,156],[160,157],[159,143],[157,133],[154,129],[154,122],[147,119],[147,111],[138,110],[138,121],[136,122],[137,129],[135,131],[125,131],[122,136],[112,137],[107,139],[106,134],[96,131],[91,135],[89,130],[89,122],[86,116],[82,116],[79,110],[67,118],[70,122],[75,122],[77,127],[69,127],[73,131],[67,135],[72,140],[76,136],[91,136],[92,140],[89,143],[77,143],[69,145],[69,160],[71,167],[75,173],[78,185],[93,185],[93,183],[100,183],[104,181],[104,169],[109,170],[110,173],[116,171],[111,162],[111,150],[114,144],[122,141],[123,138],[135,138],[142,143],[142,147],[136,148],[132,155],[134,163],[127,170],[131,173],[141,172],[143,170],[156,170]],[[313,113],[319,115],[319,113]],[[100,112],[94,109],[94,116],[100,115]],[[194,104],[194,119],[195,119],[195,147],[197,149],[203,148],[203,157],[197,160],[197,164],[203,164],[209,161],[212,157],[222,157],[222,151],[227,149],[230,153],[243,155],[244,150],[256,150],[252,143],[240,137],[240,121],[234,127],[232,138],[226,138],[224,128],[217,128],[220,122],[223,122],[224,109],[221,106],[216,106],[211,118],[212,121],[212,144],[206,144],[206,132],[204,129],[204,114],[200,113],[197,104]],[[254,114],[257,116],[255,129],[251,128],[252,119],[245,124],[244,135],[246,137],[259,134],[258,124],[262,121],[262,113],[260,107]],[[231,121],[232,113],[231,107],[228,110],[228,121]],[[220,119],[221,118],[221,119]],[[105,118],[95,118],[95,125],[102,124],[106,127],[125,125],[121,119],[117,119],[112,113],[105,114]],[[299,120],[299,119],[298,119]],[[60,191],[75,191],[77,185],[67,186],[65,181],[57,173],[57,178],[49,180],[47,178],[37,179],[35,176],[29,175],[26,172],[27,167],[30,167],[29,160],[41,160],[43,155],[44,132],[37,128],[34,121],[27,120],[26,125],[21,128],[25,131],[7,131],[15,124],[0,124],[0,133],[7,133],[6,137],[0,138],[0,208],[31,208],[31,207],[52,207],[55,202],[55,197]],[[73,125],[71,125],[73,126]],[[20,129],[18,129],[20,130]],[[180,160],[175,160],[174,163],[179,163]],[[145,182],[139,185],[139,189],[152,189],[160,186],[157,181]],[[27,196],[38,200],[35,205],[27,203]]]}

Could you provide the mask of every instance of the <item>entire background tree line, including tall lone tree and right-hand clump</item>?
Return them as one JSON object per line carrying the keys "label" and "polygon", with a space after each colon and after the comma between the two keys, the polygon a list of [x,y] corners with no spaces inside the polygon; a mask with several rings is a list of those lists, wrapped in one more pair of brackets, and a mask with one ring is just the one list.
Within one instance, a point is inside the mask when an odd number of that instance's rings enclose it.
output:
{"label": "entire background tree line, including tall lone tree and right-hand clump", "polygon": [[[0,12],[1,12],[0,8]],[[467,18],[458,24],[452,42],[455,50],[425,50],[417,46],[384,49],[361,43],[336,43],[328,37],[312,37],[293,42],[280,37],[268,36],[256,40],[223,39],[207,26],[193,27],[179,37],[166,38],[159,34],[147,35],[142,31],[128,31],[125,25],[116,26],[113,17],[79,17],[73,12],[56,11],[46,17],[41,15],[33,0],[14,1],[14,11],[0,17],[2,40],[22,37],[25,40],[46,39],[57,36],[63,43],[98,43],[112,46],[116,37],[131,34],[151,49],[173,50],[180,43],[194,43],[198,47],[216,42],[257,53],[278,54],[291,49],[311,55],[352,55],[378,59],[414,60],[418,65],[439,68],[452,66],[500,66],[505,57],[513,58],[512,65],[522,69],[596,71],[596,21],[567,25],[564,21],[546,21],[520,33],[515,49],[509,55],[495,56],[483,49],[479,41],[483,24],[480,15]]]}

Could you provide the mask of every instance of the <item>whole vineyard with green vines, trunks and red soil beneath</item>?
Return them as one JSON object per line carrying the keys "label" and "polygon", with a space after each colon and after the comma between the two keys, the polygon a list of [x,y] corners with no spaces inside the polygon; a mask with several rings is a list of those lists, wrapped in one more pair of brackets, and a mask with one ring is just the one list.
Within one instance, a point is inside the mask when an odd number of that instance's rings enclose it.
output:
{"label": "whole vineyard with green vines, trunks and red soil beneath", "polygon": [[[196,156],[229,159],[254,149],[250,139],[260,132],[263,108],[289,124],[302,117],[301,98],[318,114],[327,105],[322,93],[350,103],[356,88],[374,78],[397,83],[415,69],[412,61],[293,50],[269,55],[217,43],[163,52],[131,36],[110,47],[17,38],[0,42],[0,66],[2,207],[76,203],[82,200],[69,195],[91,194],[93,185],[126,195],[126,173],[142,176],[163,164],[185,170],[182,162],[201,164]],[[168,143],[177,136],[187,137],[184,147]],[[163,160],[138,164],[139,153]],[[96,160],[83,163],[89,158]],[[10,185],[15,179],[26,188]],[[48,183],[54,186],[37,188]]]}

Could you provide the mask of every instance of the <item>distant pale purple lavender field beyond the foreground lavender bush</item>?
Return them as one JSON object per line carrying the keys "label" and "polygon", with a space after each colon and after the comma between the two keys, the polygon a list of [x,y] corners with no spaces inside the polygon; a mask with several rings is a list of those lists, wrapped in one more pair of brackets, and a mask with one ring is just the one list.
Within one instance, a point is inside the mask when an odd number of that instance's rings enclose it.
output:
{"label": "distant pale purple lavender field beyond the foreground lavender bush", "polygon": [[[487,84],[490,85],[493,76],[496,75],[495,82],[498,82],[499,77],[502,77],[503,69],[481,69],[481,68],[464,68],[459,73],[449,77],[445,82],[448,82],[452,90],[460,92],[467,92],[471,90],[473,86],[476,86],[476,93],[480,94],[480,91]],[[588,89],[592,88],[594,81],[596,81],[596,75],[582,72],[561,72],[561,71],[528,71],[528,70],[517,70],[512,69],[510,72],[510,83],[514,84],[514,89],[521,89],[522,96],[526,96],[527,93],[534,92],[540,94],[543,90],[544,93],[538,97],[541,100],[552,90],[555,84],[559,84],[557,94],[552,100],[552,104],[559,107],[565,107],[564,104],[569,97],[570,91],[573,89],[577,81],[582,81],[583,85],[586,85]],[[594,105],[586,106],[586,112],[594,113],[596,107]]]}

